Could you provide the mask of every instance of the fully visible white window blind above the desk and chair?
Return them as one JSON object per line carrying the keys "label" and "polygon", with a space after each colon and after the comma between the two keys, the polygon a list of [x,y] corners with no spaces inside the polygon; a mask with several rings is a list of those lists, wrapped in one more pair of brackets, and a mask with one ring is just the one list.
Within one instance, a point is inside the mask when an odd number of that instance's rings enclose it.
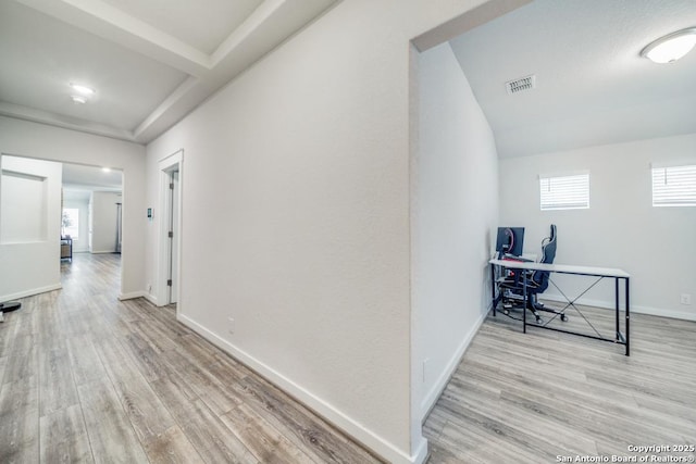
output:
{"label": "fully visible white window blind above the desk and chair", "polygon": [[589,208],[589,174],[539,177],[542,211]]}

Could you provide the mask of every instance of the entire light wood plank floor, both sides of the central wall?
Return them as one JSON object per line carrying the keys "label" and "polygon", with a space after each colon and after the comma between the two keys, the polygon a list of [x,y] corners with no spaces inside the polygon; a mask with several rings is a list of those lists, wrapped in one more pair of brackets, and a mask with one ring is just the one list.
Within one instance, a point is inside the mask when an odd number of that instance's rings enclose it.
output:
{"label": "entire light wood plank floor, both sides of the central wall", "polygon": [[[378,462],[173,308],[119,302],[119,273],[117,255],[77,254],[63,290],[23,299],[0,324],[0,463]],[[634,314],[626,358],[488,317],[424,434],[431,464],[696,444],[696,323]]]}

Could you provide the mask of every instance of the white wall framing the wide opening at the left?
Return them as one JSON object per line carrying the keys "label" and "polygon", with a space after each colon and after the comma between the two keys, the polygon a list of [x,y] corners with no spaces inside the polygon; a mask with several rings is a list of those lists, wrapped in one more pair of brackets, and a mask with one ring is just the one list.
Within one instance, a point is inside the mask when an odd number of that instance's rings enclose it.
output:
{"label": "white wall framing the wide opening at the left", "polygon": [[0,153],[123,170],[122,298],[145,293],[145,147],[0,116]]}

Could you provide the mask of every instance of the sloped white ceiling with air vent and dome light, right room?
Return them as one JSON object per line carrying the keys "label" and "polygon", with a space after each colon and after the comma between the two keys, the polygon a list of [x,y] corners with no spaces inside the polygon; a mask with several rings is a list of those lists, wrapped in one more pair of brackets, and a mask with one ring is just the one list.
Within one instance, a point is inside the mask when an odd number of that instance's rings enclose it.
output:
{"label": "sloped white ceiling with air vent and dome light, right room", "polygon": [[639,57],[689,26],[694,0],[536,0],[450,43],[506,158],[696,133],[696,51]]}

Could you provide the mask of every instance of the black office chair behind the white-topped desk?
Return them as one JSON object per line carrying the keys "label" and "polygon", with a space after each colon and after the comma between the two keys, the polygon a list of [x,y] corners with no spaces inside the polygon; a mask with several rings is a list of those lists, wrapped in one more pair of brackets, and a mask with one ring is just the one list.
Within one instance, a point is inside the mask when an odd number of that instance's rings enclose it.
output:
{"label": "black office chair behind the white-topped desk", "polygon": [[[539,263],[552,264],[556,259],[556,248],[557,248],[557,233],[556,225],[551,224],[550,235],[542,240],[542,259]],[[538,294],[544,293],[548,288],[550,272],[548,271],[533,271],[527,274],[526,279],[526,296],[527,301],[524,306],[534,314],[536,322],[542,321],[542,316],[538,314],[539,311],[549,312],[554,314],[558,314],[561,321],[568,321],[568,316],[563,312],[549,310],[544,308],[544,303],[538,302]],[[522,277],[520,277],[519,273],[510,278],[506,279],[500,285],[500,290],[506,292],[509,298],[504,298],[502,308],[504,314],[509,315],[509,309],[518,305],[517,302],[521,302],[523,291],[523,281]]]}

